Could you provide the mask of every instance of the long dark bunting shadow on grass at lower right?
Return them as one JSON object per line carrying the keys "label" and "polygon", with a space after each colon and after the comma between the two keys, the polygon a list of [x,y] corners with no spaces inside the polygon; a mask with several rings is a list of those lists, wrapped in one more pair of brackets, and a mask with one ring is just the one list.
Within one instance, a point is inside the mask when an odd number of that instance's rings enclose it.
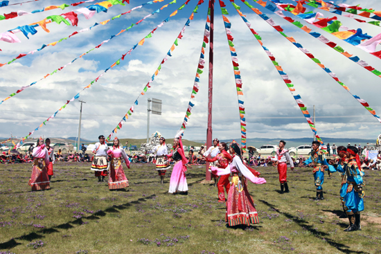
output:
{"label": "long dark bunting shadow on grass at lower right", "polygon": [[352,254],[352,253],[359,253],[359,254],[360,253],[366,253],[364,251],[352,251],[352,250],[349,249],[350,248],[349,246],[346,246],[345,244],[340,244],[339,242],[335,242],[335,240],[333,240],[333,239],[329,239],[327,237],[327,236],[329,236],[329,234],[312,228],[312,226],[308,225],[307,222],[304,221],[303,219],[296,218],[296,217],[294,217],[294,215],[291,215],[290,213],[287,213],[287,212],[281,212],[280,210],[275,208],[274,205],[272,205],[271,203],[269,203],[269,202],[267,202],[265,200],[261,200],[260,199],[259,201],[264,203],[266,206],[268,206],[272,210],[278,212],[279,214],[284,215],[288,219],[292,219],[292,221],[294,221],[294,223],[298,224],[299,226],[301,226],[305,230],[310,231],[310,233],[312,233],[312,235],[314,237],[317,237],[317,238],[319,238],[321,240],[325,239],[326,242],[330,246],[333,246],[334,248],[337,248],[338,251],[342,251],[343,253],[348,253],[348,254]]}

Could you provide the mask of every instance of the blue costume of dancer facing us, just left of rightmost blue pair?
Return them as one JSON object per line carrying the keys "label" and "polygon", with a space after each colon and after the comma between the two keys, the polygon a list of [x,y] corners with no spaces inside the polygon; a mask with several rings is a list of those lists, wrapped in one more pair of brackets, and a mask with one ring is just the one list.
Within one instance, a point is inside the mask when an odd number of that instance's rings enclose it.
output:
{"label": "blue costume of dancer facing us, just left of rightmost blue pair", "polygon": [[317,151],[313,150],[311,152],[310,158],[304,161],[305,165],[308,165],[310,163],[313,163],[314,170],[312,171],[314,173],[314,184],[316,187],[316,198],[317,200],[323,200],[323,183],[324,183],[324,168],[322,165],[327,165],[328,170],[330,172],[335,172],[335,168],[332,165],[329,165],[326,156],[324,155],[324,152],[321,151],[321,149],[317,149]]}

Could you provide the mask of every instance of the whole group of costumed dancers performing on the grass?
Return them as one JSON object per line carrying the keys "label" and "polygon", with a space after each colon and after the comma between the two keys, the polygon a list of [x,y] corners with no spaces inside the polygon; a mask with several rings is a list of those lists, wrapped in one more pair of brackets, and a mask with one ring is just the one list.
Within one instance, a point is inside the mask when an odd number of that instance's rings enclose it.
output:
{"label": "whole group of costumed dancers performing on the grass", "polygon": [[[125,165],[130,168],[130,161],[123,147],[120,146],[118,138],[114,138],[114,144],[111,149],[105,144],[105,136],[98,137],[99,142],[94,148],[94,159],[91,170],[95,172],[98,181],[105,181],[105,176],[109,172],[108,186],[109,190],[118,190],[129,186],[127,177],[123,170],[122,158]],[[161,178],[161,183],[166,176],[166,170],[170,167],[169,158],[174,162],[170,176],[169,193],[188,194],[188,184],[186,182],[186,171],[188,159],[184,154],[184,148],[181,141],[181,135],[177,134],[173,141],[173,147],[170,154],[166,145],[166,139],[161,137],[160,144],[154,147],[148,153],[156,153],[156,169]],[[279,148],[276,150],[276,156],[272,161],[276,161],[281,184],[281,194],[290,192],[287,184],[287,161],[291,170],[294,169],[292,159],[288,150],[285,149],[285,141],[279,142]],[[326,161],[325,151],[321,149],[319,142],[312,142],[312,153],[310,158],[305,161],[305,165],[313,164],[314,185],[317,189],[315,201],[323,200],[324,170],[328,172],[340,172],[342,174],[342,188],[340,190],[340,199],[342,206],[349,219],[348,228],[344,231],[361,230],[360,212],[364,210],[364,190],[362,186],[364,181],[360,167],[360,158],[356,147],[338,147],[338,155],[341,158],[337,165],[330,165]],[[29,185],[32,190],[50,189],[50,180],[53,175],[53,164],[55,162],[53,148],[50,147],[50,140],[41,138],[37,146],[33,149],[33,170],[30,176]],[[111,158],[107,162],[107,156]],[[229,147],[227,143],[221,142],[215,138],[213,146],[204,153],[204,158],[210,164],[209,171],[218,180],[218,201],[226,202],[225,220],[229,226],[238,226],[258,224],[258,212],[254,206],[254,201],[247,190],[247,181],[255,184],[266,183],[266,180],[259,177],[260,173],[252,169],[243,160],[242,149],[236,142],[232,142]],[[191,167],[190,167],[191,168]],[[229,176],[231,179],[229,181]],[[225,199],[224,189],[227,192]]]}

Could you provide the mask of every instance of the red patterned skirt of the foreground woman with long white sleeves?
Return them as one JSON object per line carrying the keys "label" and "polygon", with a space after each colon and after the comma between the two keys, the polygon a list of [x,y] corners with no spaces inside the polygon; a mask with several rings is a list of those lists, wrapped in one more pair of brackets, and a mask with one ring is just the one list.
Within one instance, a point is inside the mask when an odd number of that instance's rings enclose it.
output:
{"label": "red patterned skirt of the foreground woman with long white sleeves", "polygon": [[231,177],[225,221],[229,226],[240,224],[250,226],[259,223],[258,212],[247,190],[247,180],[244,176]]}

